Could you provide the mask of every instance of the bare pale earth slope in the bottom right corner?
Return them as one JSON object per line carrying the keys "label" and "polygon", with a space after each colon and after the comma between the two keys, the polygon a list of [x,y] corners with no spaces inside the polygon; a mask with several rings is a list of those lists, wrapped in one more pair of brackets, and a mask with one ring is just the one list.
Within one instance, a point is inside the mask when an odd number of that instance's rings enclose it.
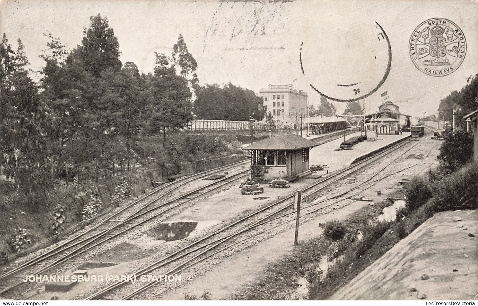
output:
{"label": "bare pale earth slope in the bottom right corner", "polygon": [[331,299],[472,300],[478,289],[477,235],[476,210],[437,213]]}

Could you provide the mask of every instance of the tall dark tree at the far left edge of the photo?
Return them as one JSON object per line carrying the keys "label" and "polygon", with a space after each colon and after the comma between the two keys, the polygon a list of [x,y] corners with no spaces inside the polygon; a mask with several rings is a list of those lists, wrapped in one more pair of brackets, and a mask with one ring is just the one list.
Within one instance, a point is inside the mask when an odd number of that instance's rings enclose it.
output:
{"label": "tall dark tree at the far left edge of the photo", "polygon": [[0,169],[24,190],[44,188],[50,178],[45,176],[50,114],[26,69],[20,39],[14,51],[3,34],[0,56]]}

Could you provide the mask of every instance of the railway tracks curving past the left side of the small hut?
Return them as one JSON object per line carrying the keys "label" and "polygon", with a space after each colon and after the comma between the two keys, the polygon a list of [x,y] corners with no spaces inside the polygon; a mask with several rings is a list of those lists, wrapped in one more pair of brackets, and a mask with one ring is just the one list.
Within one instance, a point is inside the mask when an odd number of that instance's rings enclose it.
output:
{"label": "railway tracks curving past the left side of the small hut", "polygon": [[[173,211],[174,208],[178,208],[181,205],[193,199],[201,197],[212,190],[216,190],[221,186],[227,185],[232,181],[240,179],[247,175],[250,170],[239,170],[238,173],[213,181],[206,186],[201,186],[192,191],[183,191],[184,194],[175,197],[172,200],[166,201],[164,203],[158,203],[160,199],[171,195],[174,191],[177,191],[178,189],[185,190],[185,184],[187,184],[188,182],[192,182],[199,178],[213,175],[218,172],[224,172],[224,170],[228,170],[229,172],[231,172],[235,167],[245,167],[245,165],[247,165],[248,163],[249,160],[240,161],[234,164],[228,164],[222,167],[218,167],[215,169],[178,179],[170,184],[166,184],[155,189],[144,197],[141,197],[140,199],[130,203],[124,208],[121,208],[119,211],[110,214],[108,218],[101,220],[101,222],[93,228],[88,229],[83,233],[80,233],[72,239],[63,242],[59,246],[56,246],[54,249],[47,251],[1,275],[0,281],[4,282],[4,284],[2,284],[3,286],[0,293],[4,294],[11,289],[17,287],[18,285],[22,284],[22,282],[14,282],[13,284],[7,283],[5,285],[6,278],[12,278],[19,272],[22,272],[22,274],[26,275],[37,275],[39,273],[43,273],[48,269],[60,263],[66,262],[67,260],[85,251],[91,250],[92,248],[104,243],[105,241],[118,237],[125,231],[135,228],[138,225],[141,225],[143,222],[158,218],[166,212]],[[87,234],[89,234],[89,236],[87,236]],[[65,254],[66,251],[68,252]],[[42,269],[32,272],[31,270],[38,265],[43,265]]]}

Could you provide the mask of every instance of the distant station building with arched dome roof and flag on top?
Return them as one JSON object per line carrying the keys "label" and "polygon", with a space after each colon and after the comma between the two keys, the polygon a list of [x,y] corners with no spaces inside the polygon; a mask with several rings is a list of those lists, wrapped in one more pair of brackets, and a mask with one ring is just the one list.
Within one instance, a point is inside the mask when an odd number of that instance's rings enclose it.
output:
{"label": "distant station building with arched dome roof and flag on top", "polygon": [[[399,128],[410,127],[410,115],[402,114],[399,107],[390,101],[383,102],[379,111],[365,116],[365,121],[378,134],[397,134]],[[403,120],[404,124],[401,124]]]}

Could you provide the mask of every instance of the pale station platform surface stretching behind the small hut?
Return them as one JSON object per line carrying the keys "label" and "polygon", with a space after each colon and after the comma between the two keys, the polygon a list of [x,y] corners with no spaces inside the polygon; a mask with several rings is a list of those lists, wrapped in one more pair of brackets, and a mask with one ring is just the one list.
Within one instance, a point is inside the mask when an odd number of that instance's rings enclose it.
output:
{"label": "pale station platform surface stretching behind the small hut", "polygon": [[[346,167],[360,156],[369,154],[375,150],[383,148],[391,143],[398,142],[404,138],[410,137],[410,132],[403,132],[402,135],[378,135],[377,141],[359,142],[353,146],[353,150],[334,151],[344,141],[344,138],[326,142],[318,145],[309,153],[309,165],[325,164],[327,167],[322,171],[317,171],[311,178],[319,177],[328,172],[333,172]],[[360,132],[356,132],[346,136],[346,139],[354,136],[360,136]]]}

